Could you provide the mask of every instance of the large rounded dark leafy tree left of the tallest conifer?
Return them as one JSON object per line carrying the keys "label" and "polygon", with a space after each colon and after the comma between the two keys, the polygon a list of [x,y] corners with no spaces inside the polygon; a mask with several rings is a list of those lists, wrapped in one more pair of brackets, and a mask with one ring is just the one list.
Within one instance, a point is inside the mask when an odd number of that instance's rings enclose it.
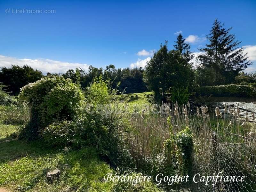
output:
{"label": "large rounded dark leafy tree left of the tallest conifer", "polygon": [[156,99],[162,98],[165,101],[166,92],[188,90],[191,73],[191,66],[180,51],[169,51],[166,42],[160,45],[160,49],[148,61],[144,81],[155,92]]}

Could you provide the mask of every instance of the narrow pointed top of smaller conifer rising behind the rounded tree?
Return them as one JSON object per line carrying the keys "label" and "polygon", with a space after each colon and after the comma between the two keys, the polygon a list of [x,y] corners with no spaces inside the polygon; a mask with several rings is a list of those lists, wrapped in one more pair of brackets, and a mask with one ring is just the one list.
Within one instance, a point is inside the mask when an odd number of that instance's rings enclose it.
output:
{"label": "narrow pointed top of smaller conifer rising behind the rounded tree", "polygon": [[[181,34],[177,36],[177,41],[174,41],[176,44],[174,44],[175,50],[179,50],[180,54],[183,55],[183,57],[189,62],[191,59],[193,59],[193,54],[190,52],[190,44],[185,43],[185,38]],[[192,64],[192,63],[191,63]]]}

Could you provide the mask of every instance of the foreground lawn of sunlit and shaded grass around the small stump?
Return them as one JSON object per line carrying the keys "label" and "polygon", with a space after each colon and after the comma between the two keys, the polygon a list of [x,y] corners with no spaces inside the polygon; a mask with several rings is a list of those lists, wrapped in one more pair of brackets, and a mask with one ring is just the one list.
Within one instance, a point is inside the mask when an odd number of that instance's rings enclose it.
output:
{"label": "foreground lawn of sunlit and shaded grass around the small stump", "polygon": [[[12,191],[111,190],[112,184],[103,178],[113,170],[93,148],[47,149],[40,141],[10,140],[16,130],[17,126],[0,125],[0,186]],[[47,182],[46,172],[56,168],[61,170],[60,178]]]}

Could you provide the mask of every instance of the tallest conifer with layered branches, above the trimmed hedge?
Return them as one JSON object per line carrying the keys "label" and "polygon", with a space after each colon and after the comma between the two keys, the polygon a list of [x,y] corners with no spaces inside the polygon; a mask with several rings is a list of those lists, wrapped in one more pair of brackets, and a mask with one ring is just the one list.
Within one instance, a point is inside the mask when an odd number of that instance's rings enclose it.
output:
{"label": "tallest conifer with layered branches, above the trimmed hedge", "polygon": [[235,35],[229,34],[231,28],[215,19],[210,34],[206,36],[210,44],[199,49],[203,54],[198,56],[199,70],[209,70],[212,74],[213,85],[233,83],[239,72],[247,68],[250,63],[244,48],[238,48],[241,43],[235,40]]}

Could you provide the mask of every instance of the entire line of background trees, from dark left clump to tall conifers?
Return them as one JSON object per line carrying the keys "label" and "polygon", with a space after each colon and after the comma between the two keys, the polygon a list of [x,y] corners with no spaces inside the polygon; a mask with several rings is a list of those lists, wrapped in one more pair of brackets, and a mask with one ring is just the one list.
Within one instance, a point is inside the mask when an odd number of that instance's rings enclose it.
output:
{"label": "entire line of background trees, from dark left clump to tall conifers", "polygon": [[[240,41],[237,41],[231,28],[225,28],[215,20],[210,33],[206,36],[209,43],[199,49],[202,54],[194,58],[190,51],[190,44],[179,34],[173,44],[172,50],[168,49],[168,42],[161,44],[158,51],[154,52],[151,60],[143,68],[118,68],[109,65],[105,69],[89,66],[88,71],[83,69],[70,69],[62,74],[79,83],[82,88],[87,87],[94,77],[111,79],[111,86],[115,88],[119,82],[119,90],[126,93],[145,92],[153,90],[156,98],[166,100],[166,93],[172,93],[173,99],[186,100],[189,92],[195,87],[207,85],[222,85],[243,83],[250,79],[256,83],[255,76],[243,73],[244,69],[252,63],[244,54]],[[43,74],[29,66],[10,68],[3,67],[0,71],[0,82],[6,85],[6,90],[13,95],[20,92],[20,87],[41,79]],[[246,80],[245,80],[246,81]],[[183,99],[182,99],[183,98]]]}

